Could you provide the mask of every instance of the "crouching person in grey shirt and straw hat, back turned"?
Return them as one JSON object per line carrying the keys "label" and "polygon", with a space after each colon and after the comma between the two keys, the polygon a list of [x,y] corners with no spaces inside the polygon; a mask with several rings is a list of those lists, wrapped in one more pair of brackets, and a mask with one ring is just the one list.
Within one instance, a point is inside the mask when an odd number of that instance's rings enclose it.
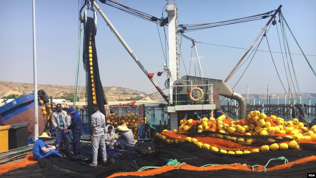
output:
{"label": "crouching person in grey shirt and straw hat, back turned", "polygon": [[121,131],[121,135],[118,138],[121,147],[120,151],[123,151],[126,147],[134,147],[135,139],[132,130],[127,128],[125,123],[119,125],[118,128]]}

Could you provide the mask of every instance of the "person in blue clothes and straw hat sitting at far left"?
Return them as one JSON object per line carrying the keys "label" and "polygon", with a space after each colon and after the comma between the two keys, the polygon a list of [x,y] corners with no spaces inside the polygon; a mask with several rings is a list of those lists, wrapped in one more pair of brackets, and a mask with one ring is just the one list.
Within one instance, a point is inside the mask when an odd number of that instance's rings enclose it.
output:
{"label": "person in blue clothes and straw hat sitting at far left", "polygon": [[45,141],[48,138],[52,138],[47,135],[46,132],[42,133],[38,137],[33,145],[33,158],[49,158],[49,157],[62,157],[61,154],[57,153],[55,146],[52,145],[45,145]]}

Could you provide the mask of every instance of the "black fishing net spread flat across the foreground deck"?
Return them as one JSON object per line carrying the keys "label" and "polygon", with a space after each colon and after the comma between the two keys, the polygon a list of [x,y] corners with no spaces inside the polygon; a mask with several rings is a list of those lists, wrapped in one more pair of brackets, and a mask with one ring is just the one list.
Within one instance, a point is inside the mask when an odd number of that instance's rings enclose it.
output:
{"label": "black fishing net spread flat across the foreground deck", "polygon": [[[173,145],[140,142],[134,148],[129,148],[125,151],[119,151],[119,149],[107,149],[108,162],[103,163],[100,160],[97,167],[92,167],[88,165],[91,163],[91,143],[85,142],[81,143],[82,152],[79,158],[73,157],[70,153],[70,150],[65,149],[62,150],[62,158],[51,157],[49,159],[39,159],[38,163],[10,170],[1,175],[1,177],[108,177],[114,173],[135,172],[145,166],[161,167],[166,165],[169,159],[176,159],[178,162],[185,162],[185,164],[196,167],[201,167],[207,164],[225,165],[236,163],[246,164],[248,166],[266,165],[270,159],[278,158],[280,156],[283,156],[289,162],[292,162],[304,157],[315,155],[315,148],[308,145],[309,144],[301,144],[301,147],[305,150],[288,149],[250,154],[228,155],[220,152],[210,151],[208,149],[201,149],[189,142]],[[266,172],[233,170],[228,168],[209,171],[175,169],[142,177],[304,177],[307,175],[307,173],[316,172],[316,167],[314,166],[315,163],[316,161],[302,162],[292,165],[291,168],[277,169]],[[282,164],[284,164],[284,160],[270,160],[266,168],[271,168]],[[140,176],[128,175],[118,177],[136,178]]]}

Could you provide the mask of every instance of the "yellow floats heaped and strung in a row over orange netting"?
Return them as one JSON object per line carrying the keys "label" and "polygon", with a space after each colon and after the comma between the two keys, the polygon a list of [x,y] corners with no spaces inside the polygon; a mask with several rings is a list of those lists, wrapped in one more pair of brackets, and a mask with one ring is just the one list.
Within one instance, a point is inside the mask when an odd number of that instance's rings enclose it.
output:
{"label": "yellow floats heaped and strung in a row over orange netting", "polygon": [[[173,143],[182,143],[185,141],[191,142],[195,144],[197,147],[210,149],[212,151],[221,152],[221,153],[228,153],[228,154],[247,154],[247,153],[255,153],[259,151],[269,151],[269,150],[285,150],[285,149],[301,149],[298,142],[300,140],[307,140],[311,139],[311,141],[316,141],[316,125],[308,130],[307,127],[304,127],[304,124],[299,122],[298,119],[293,119],[292,121],[284,121],[283,118],[278,118],[274,115],[267,117],[264,113],[260,113],[259,111],[251,111],[248,114],[248,119],[242,119],[233,121],[230,119],[226,119],[225,115],[222,115],[215,118],[202,118],[201,121],[194,121],[193,119],[189,120],[181,120],[179,130],[174,129],[173,131],[170,130],[163,130],[161,133],[156,133],[153,142],[160,140],[161,142],[165,142],[167,144]],[[192,127],[198,123],[197,128]],[[223,148],[217,148],[212,146],[208,143],[199,142],[197,138],[191,137],[184,137],[181,135],[191,133],[203,133],[203,131],[216,131],[221,134],[217,134],[217,138],[225,138],[231,142],[239,143],[245,145],[245,147],[251,147],[251,144],[254,138],[249,136],[276,136],[276,139],[282,139],[283,137],[287,137],[292,139],[287,143],[272,143],[271,145],[263,145],[260,149],[244,149],[244,150],[229,150]],[[170,135],[168,132],[173,132],[174,135],[178,135],[177,138],[168,139],[165,135]],[[165,134],[165,135],[164,135]],[[225,134],[236,134],[236,137],[225,136]],[[173,136],[174,136],[173,135]],[[247,137],[242,137],[246,135]],[[183,138],[183,139],[181,139]],[[269,138],[268,138],[269,140]],[[275,140],[274,140],[275,141]]]}

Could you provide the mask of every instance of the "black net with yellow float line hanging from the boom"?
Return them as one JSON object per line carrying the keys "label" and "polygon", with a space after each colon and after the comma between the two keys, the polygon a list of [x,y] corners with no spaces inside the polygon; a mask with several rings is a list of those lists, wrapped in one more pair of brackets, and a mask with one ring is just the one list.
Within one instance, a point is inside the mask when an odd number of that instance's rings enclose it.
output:
{"label": "black net with yellow float line hanging from the boom", "polygon": [[[103,86],[100,80],[98,56],[97,56],[97,50],[95,46],[95,34],[96,34],[96,30],[95,30],[94,19],[91,17],[88,17],[87,23],[84,25],[83,58],[82,58],[83,67],[84,67],[84,70],[86,71],[86,101],[88,102],[88,108],[87,108],[87,112],[89,116],[88,118],[91,118],[93,104],[98,104],[100,106],[100,112],[103,114],[105,114],[104,105],[107,104],[107,99],[104,94]],[[89,55],[89,50],[92,50],[92,54],[90,55]],[[93,96],[93,93],[94,93],[94,96]],[[94,101],[96,101],[96,103],[94,103]],[[90,119],[88,119],[88,121],[91,128]]]}

